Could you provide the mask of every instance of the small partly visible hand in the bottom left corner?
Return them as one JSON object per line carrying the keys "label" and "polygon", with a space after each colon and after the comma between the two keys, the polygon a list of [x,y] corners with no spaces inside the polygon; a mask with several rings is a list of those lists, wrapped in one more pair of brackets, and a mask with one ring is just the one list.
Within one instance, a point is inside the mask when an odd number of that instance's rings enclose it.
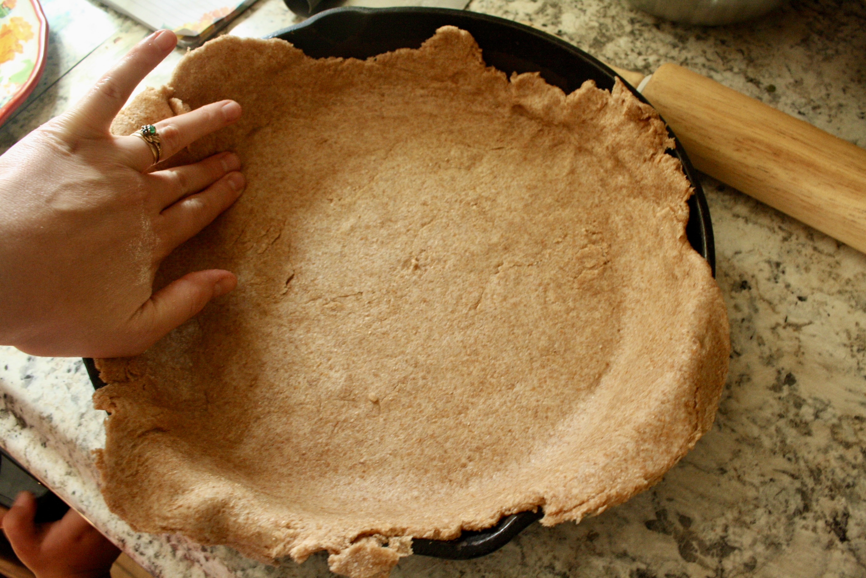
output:
{"label": "small partly visible hand in the bottom left corner", "polygon": [[61,520],[36,524],[36,499],[29,491],[18,494],[3,516],[3,532],[16,556],[36,578],[103,578],[120,556],[78,512],[69,510]]}

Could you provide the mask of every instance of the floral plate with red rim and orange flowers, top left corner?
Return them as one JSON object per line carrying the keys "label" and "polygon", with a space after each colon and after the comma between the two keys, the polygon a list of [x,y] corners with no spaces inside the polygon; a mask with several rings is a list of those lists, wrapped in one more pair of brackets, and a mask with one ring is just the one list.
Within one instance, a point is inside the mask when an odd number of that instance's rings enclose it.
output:
{"label": "floral plate with red rim and orange flowers, top left corner", "polygon": [[36,87],[47,45],[48,21],[39,0],[0,2],[0,124]]}

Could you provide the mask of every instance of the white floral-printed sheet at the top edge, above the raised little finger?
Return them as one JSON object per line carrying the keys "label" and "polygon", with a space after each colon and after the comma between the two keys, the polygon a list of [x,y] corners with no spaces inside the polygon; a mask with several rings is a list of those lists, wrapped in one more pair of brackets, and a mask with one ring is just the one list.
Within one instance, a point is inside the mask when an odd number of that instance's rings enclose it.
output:
{"label": "white floral-printed sheet at the top edge, above the raised little finger", "polygon": [[256,0],[102,0],[147,28],[170,29],[185,46],[201,44]]}

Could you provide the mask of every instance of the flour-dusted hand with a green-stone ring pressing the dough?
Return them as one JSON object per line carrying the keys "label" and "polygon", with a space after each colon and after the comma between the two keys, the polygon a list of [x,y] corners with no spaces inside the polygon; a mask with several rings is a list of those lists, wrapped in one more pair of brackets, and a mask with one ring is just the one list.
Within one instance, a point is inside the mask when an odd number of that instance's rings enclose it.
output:
{"label": "flour-dusted hand with a green-stone ring pressing the dough", "polygon": [[[0,344],[38,356],[137,355],[236,286],[214,269],[152,292],[160,261],[241,194],[238,158],[148,173],[145,141],[108,132],[176,42],[167,30],[139,42],[71,110],[0,157]],[[158,123],[162,158],[240,114],[223,100]]]}

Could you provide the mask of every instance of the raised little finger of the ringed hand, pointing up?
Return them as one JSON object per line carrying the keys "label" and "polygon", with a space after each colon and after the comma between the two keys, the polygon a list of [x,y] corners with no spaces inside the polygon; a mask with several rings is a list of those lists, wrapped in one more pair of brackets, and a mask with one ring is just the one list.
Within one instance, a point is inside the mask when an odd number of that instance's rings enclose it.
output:
{"label": "raised little finger of the ringed hand, pointing up", "polygon": [[178,43],[171,30],[158,30],[132,48],[68,112],[70,128],[80,136],[102,136],[132,90]]}

